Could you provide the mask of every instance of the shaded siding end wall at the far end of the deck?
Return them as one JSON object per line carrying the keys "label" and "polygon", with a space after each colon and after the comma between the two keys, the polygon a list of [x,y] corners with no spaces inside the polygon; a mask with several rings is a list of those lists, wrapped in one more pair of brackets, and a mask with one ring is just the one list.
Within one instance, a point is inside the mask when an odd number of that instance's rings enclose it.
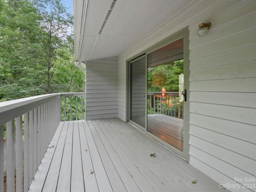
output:
{"label": "shaded siding end wall at the far end of the deck", "polygon": [[118,115],[117,58],[86,62],[86,120]]}

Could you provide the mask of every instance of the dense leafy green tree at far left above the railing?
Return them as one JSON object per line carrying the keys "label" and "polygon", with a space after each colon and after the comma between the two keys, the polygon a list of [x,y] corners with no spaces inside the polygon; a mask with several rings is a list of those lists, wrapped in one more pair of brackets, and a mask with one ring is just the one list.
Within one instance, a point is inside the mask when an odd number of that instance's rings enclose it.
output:
{"label": "dense leafy green tree at far left above the railing", "polygon": [[27,0],[1,0],[0,12],[0,99],[44,94],[41,16]]}

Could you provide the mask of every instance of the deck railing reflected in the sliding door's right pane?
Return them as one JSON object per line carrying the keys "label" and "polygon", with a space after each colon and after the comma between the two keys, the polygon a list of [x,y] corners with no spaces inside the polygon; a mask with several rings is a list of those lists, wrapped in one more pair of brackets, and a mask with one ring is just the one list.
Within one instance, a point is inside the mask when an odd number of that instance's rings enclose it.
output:
{"label": "deck railing reflected in the sliding door's right pane", "polygon": [[148,92],[148,114],[164,114],[183,119],[179,92]]}

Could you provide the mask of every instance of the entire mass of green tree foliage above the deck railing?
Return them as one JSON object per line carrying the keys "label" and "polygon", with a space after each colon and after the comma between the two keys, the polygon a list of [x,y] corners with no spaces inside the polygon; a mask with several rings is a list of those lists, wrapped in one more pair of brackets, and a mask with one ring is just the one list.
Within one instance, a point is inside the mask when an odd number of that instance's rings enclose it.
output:
{"label": "entire mass of green tree foliage above the deck railing", "polygon": [[0,0],[0,101],[84,91],[72,22],[60,0]]}

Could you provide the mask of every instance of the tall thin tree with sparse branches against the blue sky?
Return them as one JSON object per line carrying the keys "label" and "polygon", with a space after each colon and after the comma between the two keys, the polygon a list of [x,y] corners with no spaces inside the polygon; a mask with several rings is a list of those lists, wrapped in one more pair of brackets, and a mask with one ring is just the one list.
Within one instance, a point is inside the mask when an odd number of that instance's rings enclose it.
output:
{"label": "tall thin tree with sparse branches against the blue sky", "polygon": [[38,0],[38,13],[42,16],[41,26],[44,29],[43,47],[44,64],[47,66],[47,84],[45,90],[47,93],[53,93],[52,78],[54,70],[54,60],[57,59],[57,49],[63,46],[67,39],[68,30],[73,24],[73,18],[67,13],[67,8],[61,0]]}

